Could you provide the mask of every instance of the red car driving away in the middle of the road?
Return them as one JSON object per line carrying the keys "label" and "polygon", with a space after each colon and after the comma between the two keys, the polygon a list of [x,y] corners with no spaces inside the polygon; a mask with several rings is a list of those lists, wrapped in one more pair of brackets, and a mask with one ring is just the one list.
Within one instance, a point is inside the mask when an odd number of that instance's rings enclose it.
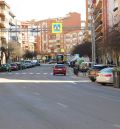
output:
{"label": "red car driving away in the middle of the road", "polygon": [[64,64],[56,64],[53,68],[53,75],[64,74],[66,75],[66,67]]}

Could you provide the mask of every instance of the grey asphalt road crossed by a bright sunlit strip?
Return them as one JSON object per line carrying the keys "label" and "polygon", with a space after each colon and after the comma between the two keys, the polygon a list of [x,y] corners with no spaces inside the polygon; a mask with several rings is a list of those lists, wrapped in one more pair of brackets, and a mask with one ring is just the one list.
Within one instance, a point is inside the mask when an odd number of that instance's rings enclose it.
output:
{"label": "grey asphalt road crossed by a bright sunlit strip", "polygon": [[120,129],[120,89],[47,65],[0,73],[0,129]]}

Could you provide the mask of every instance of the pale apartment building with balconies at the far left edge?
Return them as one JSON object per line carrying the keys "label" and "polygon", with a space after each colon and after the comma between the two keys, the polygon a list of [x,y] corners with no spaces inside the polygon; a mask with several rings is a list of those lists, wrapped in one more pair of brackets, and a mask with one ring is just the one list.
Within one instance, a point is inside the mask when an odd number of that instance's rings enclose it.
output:
{"label": "pale apartment building with balconies at the far left edge", "polygon": [[6,63],[9,58],[9,28],[15,25],[15,15],[11,12],[10,6],[5,1],[0,1],[0,64]]}

